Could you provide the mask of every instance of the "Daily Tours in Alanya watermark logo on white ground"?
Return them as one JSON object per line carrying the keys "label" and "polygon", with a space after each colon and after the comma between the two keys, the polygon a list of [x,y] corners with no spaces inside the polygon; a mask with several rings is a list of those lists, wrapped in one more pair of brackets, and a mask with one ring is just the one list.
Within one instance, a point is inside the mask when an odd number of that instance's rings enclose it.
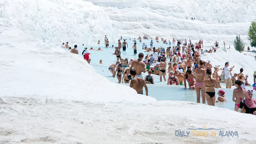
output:
{"label": "Daily Tours in Alanya watermark logo on white ground", "polygon": [[[219,135],[218,135],[219,133]],[[207,125],[204,124],[203,128],[188,128],[186,131],[175,131],[175,136],[179,137],[239,137],[237,131],[226,131],[224,128],[215,129],[215,128],[207,128]]]}

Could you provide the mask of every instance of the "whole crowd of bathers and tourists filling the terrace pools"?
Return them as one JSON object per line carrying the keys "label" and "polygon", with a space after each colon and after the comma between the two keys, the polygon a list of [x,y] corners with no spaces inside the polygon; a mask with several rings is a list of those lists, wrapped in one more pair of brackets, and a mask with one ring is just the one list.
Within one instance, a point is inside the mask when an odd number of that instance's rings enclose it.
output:
{"label": "whole crowd of bathers and tourists filling the terrace pools", "polygon": [[[137,40],[141,43],[141,37],[139,36]],[[147,39],[146,36],[143,36],[143,39]],[[121,43],[121,40],[123,42]],[[158,48],[154,47],[153,40],[150,40],[150,47],[145,43],[142,44],[142,49],[146,50],[145,52],[152,52],[150,55],[147,54],[144,57],[143,53],[138,54],[137,60],[128,61],[127,58],[121,58],[121,48],[125,52],[128,48],[127,39],[123,39],[122,36],[118,40],[118,46],[115,47],[116,63],[109,66],[108,70],[111,72],[112,77],[116,77],[118,83],[130,84],[130,87],[135,89],[138,94],[143,94],[143,87],[145,87],[146,95],[148,95],[148,88],[146,84],[155,84],[154,75],[159,75],[160,82],[163,80],[167,85],[184,85],[187,88],[193,89],[196,91],[196,101],[200,103],[202,98],[202,103],[207,102],[208,105],[215,106],[215,102],[225,102],[225,92],[220,90],[217,95],[219,97],[216,100],[215,88],[220,88],[220,83],[226,83],[226,88],[231,88],[235,86],[233,92],[233,101],[236,103],[235,111],[246,111],[245,113],[255,114],[256,101],[252,99],[252,91],[246,91],[245,85],[250,85],[247,82],[247,75],[243,74],[243,68],[240,69],[240,73],[234,73],[232,75],[233,67],[229,68],[229,63],[226,62],[224,68],[212,67],[211,60],[202,60],[201,55],[204,54],[202,47],[204,46],[203,40],[199,40],[195,44],[185,39],[184,41],[172,39],[172,42],[168,42],[161,38],[163,44],[167,44],[167,48],[160,46]],[[129,39],[131,40],[131,39]],[[137,54],[137,40],[133,40],[133,55]],[[159,43],[159,38],[156,37],[156,43]],[[100,41],[98,42],[100,44]],[[108,38],[105,36],[105,45],[108,47]],[[210,52],[216,52],[220,46],[216,41],[215,47],[210,49]],[[225,42],[223,41],[225,46]],[[68,42],[63,47],[68,47]],[[62,47],[62,48],[63,48]],[[76,45],[74,49],[71,49],[71,53],[78,54],[76,50]],[[113,46],[112,46],[113,47]],[[90,64],[90,51],[87,48],[84,48],[83,56],[84,59]],[[170,59],[170,62],[167,61]],[[102,60],[101,60],[102,62]],[[212,71],[212,68],[214,71]],[[218,71],[222,71],[221,75],[218,74]],[[141,73],[148,73],[147,76],[143,77]],[[123,75],[123,76],[122,76]],[[166,77],[167,75],[167,77]],[[256,75],[256,73],[255,73]],[[255,76],[256,77],[256,76]],[[255,81],[256,83],[256,81]],[[255,85],[255,84],[254,84]],[[256,89],[255,89],[256,91]],[[255,103],[255,105],[254,105]],[[254,108],[255,107],[255,108]],[[252,108],[252,109],[251,109]],[[254,111],[253,111],[254,108]]]}

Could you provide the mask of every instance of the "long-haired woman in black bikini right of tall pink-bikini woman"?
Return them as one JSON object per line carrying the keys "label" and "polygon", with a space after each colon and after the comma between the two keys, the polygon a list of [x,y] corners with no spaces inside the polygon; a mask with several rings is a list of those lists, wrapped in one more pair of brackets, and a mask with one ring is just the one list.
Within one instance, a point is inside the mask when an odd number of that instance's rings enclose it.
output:
{"label": "long-haired woman in black bikini right of tall pink-bikini woman", "polygon": [[216,99],[215,87],[218,89],[219,84],[217,79],[211,77],[212,76],[211,68],[206,69],[206,74],[208,79],[204,81],[204,85],[203,85],[203,89],[205,89],[206,87],[205,98],[209,106],[215,106],[215,99]]}

